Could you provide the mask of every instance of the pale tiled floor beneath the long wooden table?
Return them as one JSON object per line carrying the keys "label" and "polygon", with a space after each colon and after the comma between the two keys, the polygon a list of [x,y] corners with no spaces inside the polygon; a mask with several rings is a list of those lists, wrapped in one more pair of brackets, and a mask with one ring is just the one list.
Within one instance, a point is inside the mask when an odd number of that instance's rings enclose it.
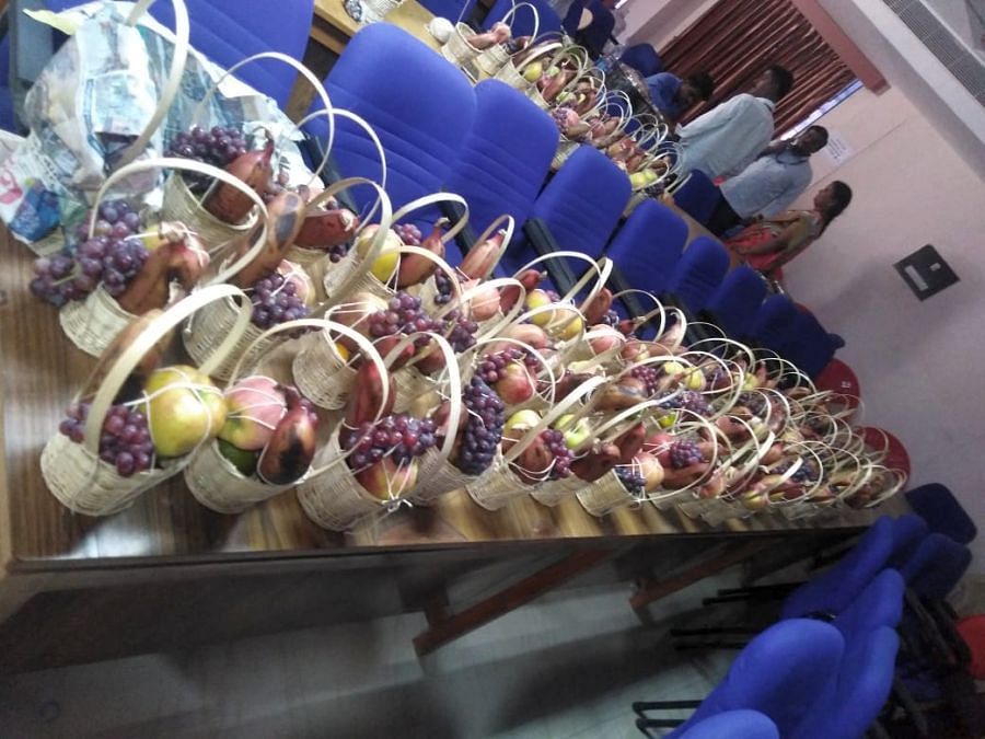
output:
{"label": "pale tiled floor beneath the long wooden table", "polygon": [[639,736],[633,701],[700,697],[725,674],[732,653],[681,656],[665,638],[718,584],[663,601],[649,626],[626,586],[568,591],[424,660],[415,614],[16,676],[0,682],[0,736]]}

